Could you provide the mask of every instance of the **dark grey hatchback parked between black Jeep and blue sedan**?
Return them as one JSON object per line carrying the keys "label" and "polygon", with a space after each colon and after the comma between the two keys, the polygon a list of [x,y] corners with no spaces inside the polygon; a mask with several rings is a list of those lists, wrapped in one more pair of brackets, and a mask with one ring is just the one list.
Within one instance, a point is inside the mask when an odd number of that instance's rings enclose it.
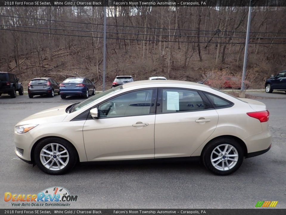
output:
{"label": "dark grey hatchback parked between black Jeep and blue sedan", "polygon": [[48,95],[54,97],[55,93],[60,95],[59,84],[52,78],[34,78],[28,84],[29,98],[35,95]]}

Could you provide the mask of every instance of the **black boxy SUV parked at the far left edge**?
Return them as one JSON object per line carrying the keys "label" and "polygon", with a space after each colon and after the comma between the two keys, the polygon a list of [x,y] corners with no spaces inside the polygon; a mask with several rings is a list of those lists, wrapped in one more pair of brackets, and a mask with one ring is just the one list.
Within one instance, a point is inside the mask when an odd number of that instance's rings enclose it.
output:
{"label": "black boxy SUV parked at the far left edge", "polygon": [[11,98],[16,98],[16,91],[19,95],[24,94],[24,89],[19,79],[13,73],[0,72],[0,96],[2,94],[9,94]]}

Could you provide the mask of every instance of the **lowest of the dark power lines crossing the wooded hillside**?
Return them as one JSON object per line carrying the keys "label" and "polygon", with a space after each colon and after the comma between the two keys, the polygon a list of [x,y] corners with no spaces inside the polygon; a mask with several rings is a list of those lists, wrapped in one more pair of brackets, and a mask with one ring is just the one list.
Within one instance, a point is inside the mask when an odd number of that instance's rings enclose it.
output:
{"label": "lowest of the dark power lines crossing the wooded hillside", "polygon": [[[84,35],[69,35],[69,34],[58,34],[58,33],[46,33],[46,32],[35,32],[35,31],[23,31],[23,30],[14,30],[14,29],[4,29],[0,28],[0,30],[8,30],[8,31],[17,31],[17,32],[26,32],[26,33],[40,33],[40,34],[51,34],[51,35],[61,35],[61,36],[75,36],[75,37],[87,37],[87,38],[100,38],[97,36],[84,36]],[[132,41],[148,41],[148,42],[178,42],[178,41],[170,41],[170,40],[147,40],[147,39],[130,39],[130,38],[112,38],[106,37],[106,39],[120,39],[120,40],[132,40]],[[215,43],[215,44],[244,44],[244,42],[195,42],[195,41],[180,41],[181,43]],[[249,44],[285,44],[285,43],[255,43],[251,42]]]}

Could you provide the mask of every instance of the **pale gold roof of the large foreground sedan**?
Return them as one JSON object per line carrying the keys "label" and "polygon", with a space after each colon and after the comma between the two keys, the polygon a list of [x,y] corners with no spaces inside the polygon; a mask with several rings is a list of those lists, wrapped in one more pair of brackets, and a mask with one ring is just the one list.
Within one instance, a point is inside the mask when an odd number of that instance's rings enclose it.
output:
{"label": "pale gold roof of the large foreground sedan", "polygon": [[175,80],[153,80],[152,82],[150,82],[150,80],[144,80],[144,81],[135,81],[135,82],[128,82],[123,86],[123,88],[127,88],[127,87],[133,87],[136,85],[150,85],[150,84],[178,84],[178,85],[193,85],[193,86],[201,86],[201,87],[208,87],[207,85],[203,85],[203,84],[198,84],[195,82],[187,82],[187,81],[175,81]]}

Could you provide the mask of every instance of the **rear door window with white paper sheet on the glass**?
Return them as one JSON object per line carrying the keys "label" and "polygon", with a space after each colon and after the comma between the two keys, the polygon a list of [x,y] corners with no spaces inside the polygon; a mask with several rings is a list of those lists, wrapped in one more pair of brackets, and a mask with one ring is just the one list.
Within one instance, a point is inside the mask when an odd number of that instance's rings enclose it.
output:
{"label": "rear door window with white paper sheet on the glass", "polygon": [[206,106],[197,91],[184,89],[163,89],[162,113],[197,111],[211,108]]}

